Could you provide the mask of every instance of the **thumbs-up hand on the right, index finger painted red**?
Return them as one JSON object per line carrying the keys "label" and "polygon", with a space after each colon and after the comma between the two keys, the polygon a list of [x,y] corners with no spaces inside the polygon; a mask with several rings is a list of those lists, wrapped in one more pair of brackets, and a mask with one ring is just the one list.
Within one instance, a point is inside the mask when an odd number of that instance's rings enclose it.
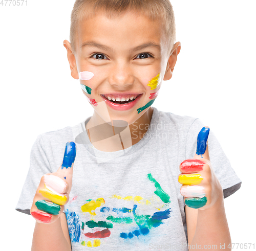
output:
{"label": "thumbs-up hand on the right, index finger painted red", "polygon": [[180,164],[178,181],[183,186],[180,193],[190,208],[205,210],[223,197],[223,191],[211,167],[207,139],[210,129],[203,127],[198,134],[197,150],[193,159]]}

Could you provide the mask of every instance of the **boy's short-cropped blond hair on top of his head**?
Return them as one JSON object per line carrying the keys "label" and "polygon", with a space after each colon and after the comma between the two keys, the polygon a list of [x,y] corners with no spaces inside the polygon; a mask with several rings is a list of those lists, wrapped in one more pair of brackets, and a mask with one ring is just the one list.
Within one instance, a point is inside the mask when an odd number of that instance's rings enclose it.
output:
{"label": "boy's short-cropped blond hair on top of his head", "polygon": [[72,49],[75,50],[77,27],[84,17],[90,18],[97,12],[104,11],[108,18],[113,18],[130,10],[136,10],[151,20],[162,21],[170,52],[176,41],[176,28],[173,6],[169,0],[76,0],[71,13]]}

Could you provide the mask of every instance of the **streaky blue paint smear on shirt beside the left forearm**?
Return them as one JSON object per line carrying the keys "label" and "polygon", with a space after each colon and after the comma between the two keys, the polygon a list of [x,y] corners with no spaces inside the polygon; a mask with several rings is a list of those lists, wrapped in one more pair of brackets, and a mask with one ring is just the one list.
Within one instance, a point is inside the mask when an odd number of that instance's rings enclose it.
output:
{"label": "streaky blue paint smear on shirt beside the left forearm", "polygon": [[75,212],[69,212],[68,209],[65,213],[69,227],[70,240],[72,242],[79,242],[81,235],[79,217]]}

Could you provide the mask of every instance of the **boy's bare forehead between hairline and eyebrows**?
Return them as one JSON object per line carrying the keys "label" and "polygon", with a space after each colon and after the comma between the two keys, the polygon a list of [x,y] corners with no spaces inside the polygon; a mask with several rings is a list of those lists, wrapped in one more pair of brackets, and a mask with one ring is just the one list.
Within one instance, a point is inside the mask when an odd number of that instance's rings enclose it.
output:
{"label": "boy's bare forehead between hairline and eyebrows", "polygon": [[160,45],[162,50],[166,37],[161,21],[151,20],[138,12],[129,11],[112,18],[99,12],[84,18],[77,27],[76,46],[83,49],[88,41],[104,44],[113,50],[131,50],[145,43]]}

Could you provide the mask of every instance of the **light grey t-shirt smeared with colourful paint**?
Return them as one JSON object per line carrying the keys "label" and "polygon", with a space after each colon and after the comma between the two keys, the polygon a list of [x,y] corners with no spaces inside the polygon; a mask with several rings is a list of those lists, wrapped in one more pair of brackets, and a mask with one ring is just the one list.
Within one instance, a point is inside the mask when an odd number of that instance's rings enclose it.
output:
{"label": "light grey t-shirt smeared with colourful paint", "polygon": [[[16,210],[29,214],[41,176],[57,171],[66,143],[74,141],[73,185],[65,206],[73,251],[92,247],[104,251],[187,250],[179,165],[194,157],[197,135],[204,124],[153,108],[147,132],[125,150],[97,150],[85,128],[90,118],[40,134],[32,147],[29,173]],[[212,131],[208,148],[227,197],[240,188],[241,180]]]}

